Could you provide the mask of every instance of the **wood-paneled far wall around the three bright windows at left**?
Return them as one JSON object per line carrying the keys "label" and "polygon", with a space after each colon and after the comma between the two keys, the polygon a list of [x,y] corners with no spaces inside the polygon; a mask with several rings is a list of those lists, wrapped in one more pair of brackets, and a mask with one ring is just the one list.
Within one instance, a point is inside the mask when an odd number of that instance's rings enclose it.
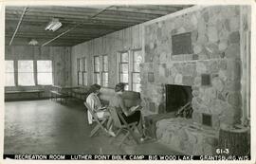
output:
{"label": "wood-paneled far wall around the three bright windows at left", "polygon": [[[53,82],[71,84],[71,47],[68,46],[6,46],[6,60],[51,60]],[[15,87],[12,87],[15,89]]]}

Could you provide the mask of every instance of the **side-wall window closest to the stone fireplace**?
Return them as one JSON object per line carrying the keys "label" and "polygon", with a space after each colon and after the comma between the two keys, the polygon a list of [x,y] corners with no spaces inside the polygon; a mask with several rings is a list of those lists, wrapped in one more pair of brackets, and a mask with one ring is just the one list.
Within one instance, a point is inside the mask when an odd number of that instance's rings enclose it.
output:
{"label": "side-wall window closest to the stone fireplace", "polygon": [[139,64],[142,63],[142,53],[141,50],[134,51],[133,54],[133,81],[132,81],[132,88],[133,91],[140,92],[140,75],[139,75]]}

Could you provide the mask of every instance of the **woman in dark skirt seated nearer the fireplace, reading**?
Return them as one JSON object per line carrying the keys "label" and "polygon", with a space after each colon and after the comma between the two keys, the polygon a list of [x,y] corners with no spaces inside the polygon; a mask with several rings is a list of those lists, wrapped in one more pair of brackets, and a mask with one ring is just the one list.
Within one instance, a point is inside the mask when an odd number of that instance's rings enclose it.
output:
{"label": "woman in dark skirt seated nearer the fireplace, reading", "polygon": [[118,83],[115,87],[115,96],[109,101],[109,106],[116,107],[117,110],[121,111],[122,117],[125,119],[127,123],[132,123],[137,121],[137,130],[140,134],[140,140],[143,141],[145,139],[143,124],[142,124],[142,115],[137,107],[131,107],[128,109],[124,105],[124,100],[122,98],[122,93],[124,91],[125,83]]}

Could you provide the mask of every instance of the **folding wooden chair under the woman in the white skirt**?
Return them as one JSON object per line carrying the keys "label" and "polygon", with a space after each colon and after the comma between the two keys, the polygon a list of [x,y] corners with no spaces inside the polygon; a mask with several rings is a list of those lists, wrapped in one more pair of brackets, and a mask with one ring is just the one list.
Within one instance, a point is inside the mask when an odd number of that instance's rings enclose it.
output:
{"label": "folding wooden chair under the woman in the white skirt", "polygon": [[91,107],[86,102],[84,102],[84,105],[86,106],[87,110],[91,113],[93,120],[97,122],[97,125],[93,128],[93,130],[90,133],[90,137],[93,137],[100,129],[104,133],[106,133],[105,128],[103,127],[103,124],[105,123],[107,118],[98,118],[97,114],[93,112]]}

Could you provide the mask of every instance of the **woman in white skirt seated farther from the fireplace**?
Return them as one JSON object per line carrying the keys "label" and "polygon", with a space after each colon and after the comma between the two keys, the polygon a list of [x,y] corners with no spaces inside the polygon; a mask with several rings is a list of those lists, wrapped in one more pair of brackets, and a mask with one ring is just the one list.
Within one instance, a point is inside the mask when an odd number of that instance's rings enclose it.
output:
{"label": "woman in white skirt seated farther from the fireplace", "polygon": [[[114,132],[112,131],[112,125],[111,125],[112,118],[110,117],[110,113],[107,110],[105,110],[106,108],[102,106],[101,100],[98,97],[98,94],[100,93],[100,90],[101,90],[101,85],[93,84],[91,85],[90,90],[91,90],[91,93],[87,97],[86,103],[91,107],[92,111],[95,112],[98,118],[108,118],[108,122],[107,122],[107,128],[109,129],[108,134],[111,136],[115,136]],[[89,110],[87,111],[87,117],[88,117],[89,124],[92,124],[93,118]]]}

